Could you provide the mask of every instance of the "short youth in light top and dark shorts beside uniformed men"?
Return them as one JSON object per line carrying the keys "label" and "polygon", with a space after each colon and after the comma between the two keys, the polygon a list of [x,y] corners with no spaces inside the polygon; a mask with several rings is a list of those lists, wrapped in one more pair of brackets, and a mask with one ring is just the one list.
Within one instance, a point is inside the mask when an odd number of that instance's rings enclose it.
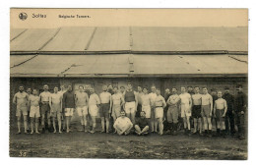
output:
{"label": "short youth in light top and dark shorts beside uniformed men", "polygon": [[224,119],[225,119],[225,113],[227,110],[226,101],[223,98],[223,92],[218,91],[218,99],[215,101],[214,106],[214,115],[217,120],[217,134],[220,135],[220,129],[222,132],[222,135],[225,137],[225,126],[224,126]]}

